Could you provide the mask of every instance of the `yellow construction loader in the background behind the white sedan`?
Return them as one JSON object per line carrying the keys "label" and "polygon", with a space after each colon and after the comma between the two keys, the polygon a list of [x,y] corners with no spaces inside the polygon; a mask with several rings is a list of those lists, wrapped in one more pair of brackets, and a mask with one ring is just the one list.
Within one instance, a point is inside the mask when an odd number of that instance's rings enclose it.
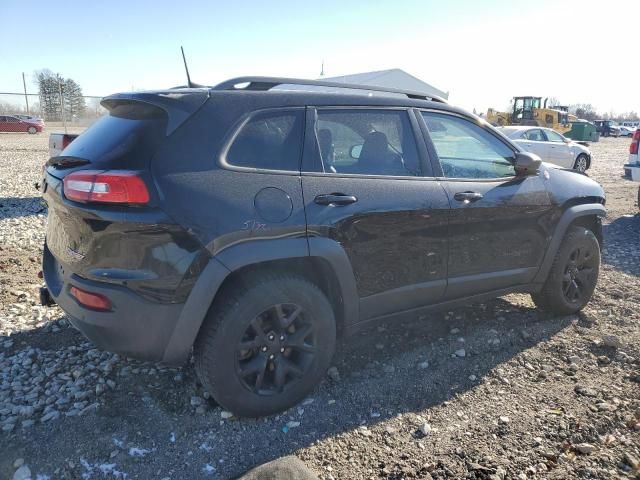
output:
{"label": "yellow construction loader in the background behind the white sedan", "polygon": [[499,112],[490,108],[486,120],[495,126],[537,125],[552,128],[559,133],[571,130],[571,122],[575,115],[569,113],[568,107],[547,107],[547,100],[542,97],[514,97],[511,112]]}

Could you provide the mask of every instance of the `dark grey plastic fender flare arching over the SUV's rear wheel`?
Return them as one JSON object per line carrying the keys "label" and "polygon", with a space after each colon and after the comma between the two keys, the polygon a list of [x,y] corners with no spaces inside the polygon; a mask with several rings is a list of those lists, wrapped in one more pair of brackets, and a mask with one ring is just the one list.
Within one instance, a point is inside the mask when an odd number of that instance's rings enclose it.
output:
{"label": "dark grey plastic fender flare arching over the SUV's rear wheel", "polygon": [[338,280],[345,325],[358,319],[359,297],[351,262],[342,246],[329,238],[252,240],[229,247],[211,257],[200,273],[167,343],[162,363],[186,362],[200,326],[220,286],[234,271],[273,260],[318,257],[328,262]]}

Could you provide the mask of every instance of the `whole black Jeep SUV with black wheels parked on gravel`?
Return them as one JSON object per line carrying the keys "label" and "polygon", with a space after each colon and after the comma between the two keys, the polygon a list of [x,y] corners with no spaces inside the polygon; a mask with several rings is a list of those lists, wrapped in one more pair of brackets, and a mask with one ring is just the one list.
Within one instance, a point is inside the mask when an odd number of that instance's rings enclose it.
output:
{"label": "whole black Jeep SUV with black wheels parked on gravel", "polygon": [[371,321],[594,291],[602,188],[440,99],[247,77],[102,105],[46,164],[43,300],[101,348],[193,352],[238,415],[300,401]]}

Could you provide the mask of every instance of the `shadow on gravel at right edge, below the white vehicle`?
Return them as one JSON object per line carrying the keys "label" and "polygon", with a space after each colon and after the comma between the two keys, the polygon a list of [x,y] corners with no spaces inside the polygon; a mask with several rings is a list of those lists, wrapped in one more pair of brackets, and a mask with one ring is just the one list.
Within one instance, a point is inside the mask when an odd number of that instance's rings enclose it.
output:
{"label": "shadow on gravel at right edge, below the white vehicle", "polygon": [[602,261],[631,275],[640,275],[640,215],[623,216],[602,226],[604,248]]}

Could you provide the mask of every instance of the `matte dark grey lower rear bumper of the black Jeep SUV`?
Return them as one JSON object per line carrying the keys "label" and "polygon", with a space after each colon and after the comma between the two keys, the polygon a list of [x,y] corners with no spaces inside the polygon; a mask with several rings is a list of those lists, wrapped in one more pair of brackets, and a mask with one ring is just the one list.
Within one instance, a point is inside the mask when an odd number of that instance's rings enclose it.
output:
{"label": "matte dark grey lower rear bumper of the black Jeep SUV", "polygon": [[[124,286],[83,279],[60,264],[46,244],[43,273],[51,297],[98,348],[140,360],[165,360],[165,350],[184,304],[155,303]],[[112,310],[99,312],[81,306],[69,294],[72,286],[105,295]]]}

